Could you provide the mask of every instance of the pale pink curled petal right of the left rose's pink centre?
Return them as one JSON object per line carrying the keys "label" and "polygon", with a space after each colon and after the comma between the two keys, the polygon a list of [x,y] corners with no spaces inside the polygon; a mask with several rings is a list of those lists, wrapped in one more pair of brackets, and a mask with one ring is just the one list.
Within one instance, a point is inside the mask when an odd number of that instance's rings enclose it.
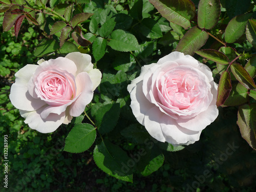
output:
{"label": "pale pink curled petal right of the left rose's pink centre", "polygon": [[78,117],[93,99],[93,83],[87,72],[76,76],[76,95],[78,98],[70,105],[70,115]]}

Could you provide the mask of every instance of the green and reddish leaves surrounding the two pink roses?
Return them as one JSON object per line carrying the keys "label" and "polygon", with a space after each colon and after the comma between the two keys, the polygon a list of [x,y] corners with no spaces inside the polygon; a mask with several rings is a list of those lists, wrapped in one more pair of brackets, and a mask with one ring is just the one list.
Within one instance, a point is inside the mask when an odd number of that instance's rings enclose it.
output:
{"label": "green and reddish leaves surrounding the two pink roses", "polygon": [[[0,132],[10,138],[12,191],[80,190],[90,182],[104,183],[113,191],[138,191],[145,187],[144,180],[151,186],[145,191],[228,191],[227,186],[242,191],[252,183],[255,155],[241,138],[255,150],[255,3],[0,2],[5,31],[0,37]],[[126,90],[141,66],[174,50],[194,55],[210,67],[219,83],[217,105],[223,107],[201,140],[185,148],[153,139],[134,118]],[[102,72],[93,101],[84,115],[52,134],[29,129],[8,99],[14,73],[41,57],[47,60],[74,51],[92,55]],[[239,148],[233,147],[229,155],[232,143]],[[93,165],[114,178],[102,178]],[[78,176],[87,174],[83,170],[89,175],[79,180]],[[92,175],[98,176],[96,181],[90,179]],[[23,179],[18,181],[19,177]],[[166,180],[162,187],[158,177]]]}

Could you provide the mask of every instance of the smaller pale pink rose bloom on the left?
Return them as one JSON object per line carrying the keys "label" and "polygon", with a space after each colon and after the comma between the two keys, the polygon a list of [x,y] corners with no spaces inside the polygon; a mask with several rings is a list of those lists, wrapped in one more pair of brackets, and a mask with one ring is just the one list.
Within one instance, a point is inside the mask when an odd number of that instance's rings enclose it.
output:
{"label": "smaller pale pink rose bloom on the left", "polygon": [[50,133],[83,113],[101,72],[93,69],[90,55],[79,52],[37,63],[15,74],[10,100],[31,129]]}

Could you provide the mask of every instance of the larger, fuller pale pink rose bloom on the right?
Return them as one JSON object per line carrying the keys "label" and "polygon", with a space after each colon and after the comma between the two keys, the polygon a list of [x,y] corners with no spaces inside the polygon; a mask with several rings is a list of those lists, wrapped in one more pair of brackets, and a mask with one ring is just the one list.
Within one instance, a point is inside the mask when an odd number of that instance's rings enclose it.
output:
{"label": "larger, fuller pale pink rose bloom on the right", "polygon": [[158,141],[188,145],[213,122],[217,84],[210,69],[190,55],[172,52],[141,68],[127,87],[136,119]]}

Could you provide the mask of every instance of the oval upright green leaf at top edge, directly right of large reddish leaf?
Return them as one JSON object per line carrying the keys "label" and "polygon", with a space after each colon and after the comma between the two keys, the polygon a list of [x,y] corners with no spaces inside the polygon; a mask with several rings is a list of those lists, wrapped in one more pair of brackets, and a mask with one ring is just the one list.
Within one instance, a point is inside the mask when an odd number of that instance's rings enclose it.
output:
{"label": "oval upright green leaf at top edge, directly right of large reddish leaf", "polygon": [[211,29],[219,20],[221,5],[219,0],[201,0],[198,5],[198,27]]}

